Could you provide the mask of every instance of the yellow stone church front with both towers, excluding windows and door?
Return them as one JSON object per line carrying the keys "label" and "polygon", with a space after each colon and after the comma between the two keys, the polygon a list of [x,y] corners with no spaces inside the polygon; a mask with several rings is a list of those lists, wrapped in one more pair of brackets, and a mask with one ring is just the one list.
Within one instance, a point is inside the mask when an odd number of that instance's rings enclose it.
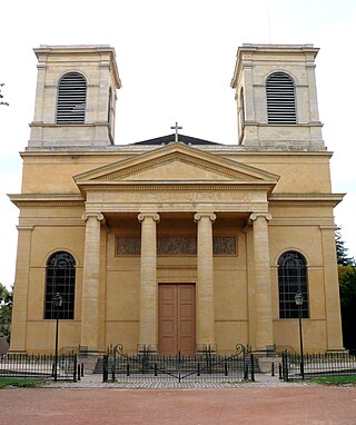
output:
{"label": "yellow stone church front with both towers, excluding windows and door", "polygon": [[[177,142],[175,135],[115,145],[121,83],[113,49],[34,52],[34,119],[21,152],[21,194],[10,195],[20,210],[11,352],[53,350],[44,299],[47,264],[57,251],[76,263],[73,318],[60,320],[61,347],[102,353],[121,343],[131,353],[140,345],[159,352],[159,285],[189,284],[197,347],[298,350],[298,319],[280,318],[278,288],[279,257],[297,251],[307,266],[305,350],[343,348],[333,216],[343,194],[332,192],[316,48],[238,49],[236,146],[184,136]],[[56,123],[58,83],[72,71],[87,81],[86,119]],[[275,71],[293,78],[295,123],[268,122],[266,79]],[[216,240],[235,247],[215,250]],[[120,250],[121,243],[131,250]]]}

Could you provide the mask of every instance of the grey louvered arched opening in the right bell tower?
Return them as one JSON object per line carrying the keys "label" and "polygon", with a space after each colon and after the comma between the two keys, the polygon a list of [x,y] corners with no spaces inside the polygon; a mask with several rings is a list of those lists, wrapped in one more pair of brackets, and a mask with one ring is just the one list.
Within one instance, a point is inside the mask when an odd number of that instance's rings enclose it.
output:
{"label": "grey louvered arched opening in the right bell tower", "polygon": [[274,72],[266,81],[268,123],[296,123],[296,97],[291,78]]}

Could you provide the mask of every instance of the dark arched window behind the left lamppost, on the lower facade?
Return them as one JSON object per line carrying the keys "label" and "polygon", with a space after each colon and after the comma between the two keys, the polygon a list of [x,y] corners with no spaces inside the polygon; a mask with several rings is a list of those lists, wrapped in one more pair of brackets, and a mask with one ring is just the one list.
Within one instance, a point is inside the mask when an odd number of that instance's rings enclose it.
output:
{"label": "dark arched window behind the left lamppost, on the lower facade", "polygon": [[59,293],[63,299],[59,308],[59,318],[75,317],[76,260],[65,251],[52,254],[46,267],[44,318],[56,318],[53,296]]}

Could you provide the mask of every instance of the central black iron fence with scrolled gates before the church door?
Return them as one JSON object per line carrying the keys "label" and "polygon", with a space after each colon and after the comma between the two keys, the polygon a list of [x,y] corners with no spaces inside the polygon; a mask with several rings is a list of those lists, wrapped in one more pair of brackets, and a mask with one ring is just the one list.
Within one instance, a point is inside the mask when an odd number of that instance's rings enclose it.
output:
{"label": "central black iron fence with scrolled gates before the church door", "polygon": [[102,359],[102,380],[112,382],[240,382],[254,379],[253,355],[238,345],[235,354],[221,356],[206,352],[194,357],[159,356],[150,352],[125,355],[122,345]]}

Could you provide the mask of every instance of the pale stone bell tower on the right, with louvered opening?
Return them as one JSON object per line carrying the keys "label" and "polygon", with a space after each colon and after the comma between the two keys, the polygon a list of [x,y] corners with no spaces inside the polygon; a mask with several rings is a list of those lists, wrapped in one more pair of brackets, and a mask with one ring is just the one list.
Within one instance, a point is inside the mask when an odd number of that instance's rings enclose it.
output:
{"label": "pale stone bell tower on the right, with louvered opening", "polygon": [[313,45],[243,45],[236,90],[239,145],[324,150]]}

